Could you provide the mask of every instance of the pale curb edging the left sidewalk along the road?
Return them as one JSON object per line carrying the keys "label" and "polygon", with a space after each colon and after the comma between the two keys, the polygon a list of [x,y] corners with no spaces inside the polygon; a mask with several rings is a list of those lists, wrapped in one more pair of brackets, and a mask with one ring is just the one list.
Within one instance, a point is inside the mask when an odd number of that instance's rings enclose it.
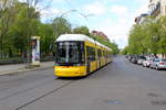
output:
{"label": "pale curb edging the left sidewalk along the road", "polygon": [[53,68],[53,66],[48,66],[48,67],[35,67],[35,68],[31,68],[31,69],[25,69],[22,68],[20,70],[13,70],[13,72],[2,72],[2,74],[0,74],[0,76],[12,76],[12,75],[18,75],[18,74],[22,74],[22,73],[27,73],[27,72],[35,72],[35,70],[44,70],[44,69],[50,69]]}

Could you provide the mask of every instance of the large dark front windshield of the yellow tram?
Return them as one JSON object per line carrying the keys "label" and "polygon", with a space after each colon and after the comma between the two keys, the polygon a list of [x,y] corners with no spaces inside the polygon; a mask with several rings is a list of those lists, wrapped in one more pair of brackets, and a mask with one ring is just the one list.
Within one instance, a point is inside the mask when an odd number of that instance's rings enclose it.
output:
{"label": "large dark front windshield of the yellow tram", "polygon": [[56,63],[77,64],[83,62],[83,45],[81,42],[58,42]]}

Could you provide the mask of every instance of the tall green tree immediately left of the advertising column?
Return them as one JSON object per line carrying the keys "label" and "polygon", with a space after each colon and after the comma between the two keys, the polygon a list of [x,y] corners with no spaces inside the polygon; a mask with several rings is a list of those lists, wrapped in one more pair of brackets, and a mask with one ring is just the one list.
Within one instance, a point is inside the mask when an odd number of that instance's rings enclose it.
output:
{"label": "tall green tree immediately left of the advertising column", "polygon": [[[38,25],[40,24],[39,12],[33,8],[29,9],[29,12],[33,15],[27,18],[28,8],[27,3],[18,2],[14,6],[15,14],[14,20],[10,26],[9,35],[13,38],[13,46],[17,52],[22,56],[29,56],[30,54],[30,40],[32,35],[38,35]],[[30,61],[30,59],[29,59]]]}

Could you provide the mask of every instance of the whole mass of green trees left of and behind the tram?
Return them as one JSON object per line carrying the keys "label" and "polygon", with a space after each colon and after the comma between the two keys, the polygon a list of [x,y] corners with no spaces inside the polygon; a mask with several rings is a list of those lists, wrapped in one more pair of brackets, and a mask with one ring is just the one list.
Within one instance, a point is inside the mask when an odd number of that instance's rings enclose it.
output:
{"label": "whole mass of green trees left of and behind the tram", "polygon": [[102,44],[111,47],[113,54],[118,53],[115,43],[101,36],[93,36],[86,26],[79,26],[72,31],[72,24],[64,18],[55,18],[51,23],[40,21],[40,12],[33,6],[18,0],[7,0],[2,10],[0,8],[0,58],[28,57],[31,50],[31,36],[41,36],[41,54],[54,53],[54,42],[58,36],[65,33],[85,34]]}

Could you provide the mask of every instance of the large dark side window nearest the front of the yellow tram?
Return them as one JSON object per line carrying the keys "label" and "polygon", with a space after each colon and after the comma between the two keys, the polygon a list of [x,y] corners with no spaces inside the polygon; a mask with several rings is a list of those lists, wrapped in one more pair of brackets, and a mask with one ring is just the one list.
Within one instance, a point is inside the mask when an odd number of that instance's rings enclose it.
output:
{"label": "large dark side window nearest the front of the yellow tram", "polygon": [[95,61],[95,50],[93,47],[86,46],[86,53],[87,53],[87,61],[94,62]]}

